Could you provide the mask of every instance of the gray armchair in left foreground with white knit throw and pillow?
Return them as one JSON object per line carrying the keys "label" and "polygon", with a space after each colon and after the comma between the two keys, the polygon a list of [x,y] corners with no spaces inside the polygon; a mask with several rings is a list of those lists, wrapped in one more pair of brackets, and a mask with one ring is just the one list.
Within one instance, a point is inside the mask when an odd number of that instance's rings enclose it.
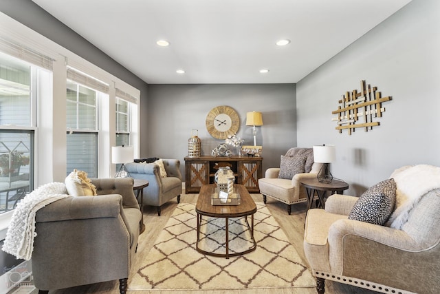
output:
{"label": "gray armchair in left foreground with white knit throw and pillow", "polygon": [[32,260],[39,293],[111,280],[126,293],[141,220],[133,179],[81,177],[74,171],[67,185],[51,182],[25,196],[2,249]]}

